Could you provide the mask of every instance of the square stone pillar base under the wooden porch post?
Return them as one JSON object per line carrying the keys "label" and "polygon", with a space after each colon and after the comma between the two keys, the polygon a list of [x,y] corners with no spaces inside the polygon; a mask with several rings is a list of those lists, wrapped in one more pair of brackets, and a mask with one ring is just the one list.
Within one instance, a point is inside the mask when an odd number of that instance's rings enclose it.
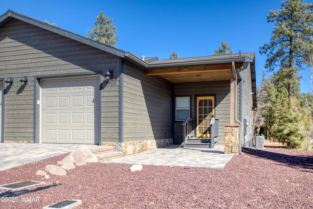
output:
{"label": "square stone pillar base under the wooden porch post", "polygon": [[239,125],[224,125],[224,154],[239,153]]}

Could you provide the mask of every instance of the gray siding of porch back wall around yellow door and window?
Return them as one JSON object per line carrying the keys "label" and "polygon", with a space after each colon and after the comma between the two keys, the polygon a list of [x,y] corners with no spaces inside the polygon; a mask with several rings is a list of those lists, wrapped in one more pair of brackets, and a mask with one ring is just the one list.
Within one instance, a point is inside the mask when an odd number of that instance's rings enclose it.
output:
{"label": "gray siding of porch back wall around yellow door and window", "polygon": [[[181,83],[174,85],[174,96],[191,96],[191,118],[195,115],[195,100],[197,95],[215,95],[215,116],[219,121],[218,144],[224,144],[224,124],[230,123],[230,81]],[[175,104],[174,104],[175,105]],[[174,143],[183,141],[181,121],[174,122]]]}

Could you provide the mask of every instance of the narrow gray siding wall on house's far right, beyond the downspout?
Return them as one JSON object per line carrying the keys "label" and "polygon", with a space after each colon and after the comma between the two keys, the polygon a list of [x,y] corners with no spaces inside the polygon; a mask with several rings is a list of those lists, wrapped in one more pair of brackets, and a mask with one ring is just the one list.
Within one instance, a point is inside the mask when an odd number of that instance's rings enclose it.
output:
{"label": "narrow gray siding wall on house's far right, beyond the downspout", "polygon": [[[248,118],[248,125],[246,126],[246,136],[245,133],[242,133],[242,136],[244,137],[242,141],[242,145],[245,146],[244,142],[246,141],[246,144],[248,143],[249,139],[251,139],[252,133],[252,86],[251,86],[251,70],[250,70],[250,63],[244,63],[244,69],[239,71],[240,77],[242,78],[240,82],[240,92],[241,92],[241,106],[240,111],[238,113],[241,113],[240,121],[243,123],[242,131],[244,132],[244,118],[247,116]],[[246,138],[246,139],[245,139]]]}

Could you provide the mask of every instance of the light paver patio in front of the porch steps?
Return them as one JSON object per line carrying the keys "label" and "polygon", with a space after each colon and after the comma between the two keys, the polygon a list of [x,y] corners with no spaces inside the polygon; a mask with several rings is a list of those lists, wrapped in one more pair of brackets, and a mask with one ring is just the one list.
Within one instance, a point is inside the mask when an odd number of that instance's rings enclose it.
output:
{"label": "light paver patio in front of the porch steps", "polygon": [[223,169],[234,155],[224,154],[224,146],[209,148],[179,148],[170,145],[113,159],[104,163],[150,164],[185,167],[209,167]]}

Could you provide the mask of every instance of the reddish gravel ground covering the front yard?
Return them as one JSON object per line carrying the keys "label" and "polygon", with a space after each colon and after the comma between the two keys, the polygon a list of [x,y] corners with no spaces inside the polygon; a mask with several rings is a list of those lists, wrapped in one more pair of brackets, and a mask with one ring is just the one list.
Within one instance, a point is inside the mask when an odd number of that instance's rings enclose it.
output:
{"label": "reddish gravel ground covering the front yard", "polygon": [[0,209],[42,209],[66,199],[82,200],[80,209],[313,208],[313,151],[243,151],[223,170],[143,165],[131,172],[129,164],[88,163],[67,170],[66,176],[35,174],[66,156],[60,155],[1,171],[0,185],[25,180],[46,185],[21,192],[0,189]]}

